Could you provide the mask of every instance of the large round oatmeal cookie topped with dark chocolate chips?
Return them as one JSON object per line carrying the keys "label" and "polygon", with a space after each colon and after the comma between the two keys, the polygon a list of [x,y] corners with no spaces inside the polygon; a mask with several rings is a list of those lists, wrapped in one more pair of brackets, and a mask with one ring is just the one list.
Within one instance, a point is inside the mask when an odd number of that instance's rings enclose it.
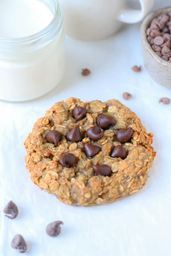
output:
{"label": "large round oatmeal cookie topped with dark chocolate chips", "polygon": [[[59,133],[48,134],[51,130]],[[155,157],[152,138],[137,115],[115,99],[69,98],[55,103],[34,124],[25,140],[26,167],[34,184],[63,203],[105,204],[145,185]]]}

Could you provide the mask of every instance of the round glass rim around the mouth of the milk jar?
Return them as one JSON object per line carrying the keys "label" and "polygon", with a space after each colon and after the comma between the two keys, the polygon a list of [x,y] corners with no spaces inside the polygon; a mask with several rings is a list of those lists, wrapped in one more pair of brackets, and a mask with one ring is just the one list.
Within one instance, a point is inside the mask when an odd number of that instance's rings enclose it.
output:
{"label": "round glass rim around the mouth of the milk jar", "polygon": [[[38,0],[43,2],[48,8],[49,8],[49,3],[46,0]],[[42,30],[38,31],[37,33],[33,35],[29,35],[26,37],[18,37],[18,38],[3,38],[0,37],[0,43],[25,43],[28,41],[34,41],[34,40],[39,40],[42,36],[46,35],[58,22],[58,18],[60,17],[60,5],[58,3],[58,0],[52,0],[55,6],[55,11],[54,11],[54,17],[52,21]]]}

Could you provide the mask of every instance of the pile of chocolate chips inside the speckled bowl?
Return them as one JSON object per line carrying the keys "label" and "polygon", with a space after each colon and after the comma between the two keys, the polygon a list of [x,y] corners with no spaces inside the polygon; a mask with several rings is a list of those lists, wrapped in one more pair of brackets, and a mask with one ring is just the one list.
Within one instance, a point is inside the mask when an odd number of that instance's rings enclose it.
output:
{"label": "pile of chocolate chips inside the speckled bowl", "polygon": [[147,40],[156,54],[171,62],[171,11],[154,18],[146,30]]}

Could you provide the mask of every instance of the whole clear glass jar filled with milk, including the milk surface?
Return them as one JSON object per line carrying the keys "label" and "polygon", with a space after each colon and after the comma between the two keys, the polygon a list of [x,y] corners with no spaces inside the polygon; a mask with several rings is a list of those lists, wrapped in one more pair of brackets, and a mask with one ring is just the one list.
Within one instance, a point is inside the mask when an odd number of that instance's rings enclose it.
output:
{"label": "whole clear glass jar filled with milk, including the milk surface", "polygon": [[61,81],[64,60],[57,0],[0,0],[0,99],[44,95]]}

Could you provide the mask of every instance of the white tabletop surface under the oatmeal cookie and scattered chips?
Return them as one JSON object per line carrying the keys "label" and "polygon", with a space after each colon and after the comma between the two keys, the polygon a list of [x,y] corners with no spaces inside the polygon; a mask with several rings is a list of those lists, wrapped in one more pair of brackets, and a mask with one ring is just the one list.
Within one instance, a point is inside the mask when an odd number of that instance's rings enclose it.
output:
{"label": "white tabletop surface under the oatmeal cookie and scattered chips", "polygon": [[[158,0],[154,9],[169,2]],[[134,73],[133,65],[143,65],[140,24],[125,25],[99,42],[67,37],[66,73],[54,91],[25,103],[0,101],[0,255],[19,255],[10,245],[16,233],[33,247],[30,256],[170,255],[171,104],[158,100],[171,98],[171,90],[154,82],[144,66]],[[82,77],[82,68],[89,68],[91,75]],[[125,91],[133,95],[129,101],[122,98]],[[156,159],[139,193],[104,206],[71,207],[32,183],[25,169],[24,140],[47,109],[71,96],[82,101],[118,99],[154,134]],[[3,213],[9,200],[19,208],[13,220]],[[46,225],[56,220],[64,222],[62,232],[49,237]]]}

